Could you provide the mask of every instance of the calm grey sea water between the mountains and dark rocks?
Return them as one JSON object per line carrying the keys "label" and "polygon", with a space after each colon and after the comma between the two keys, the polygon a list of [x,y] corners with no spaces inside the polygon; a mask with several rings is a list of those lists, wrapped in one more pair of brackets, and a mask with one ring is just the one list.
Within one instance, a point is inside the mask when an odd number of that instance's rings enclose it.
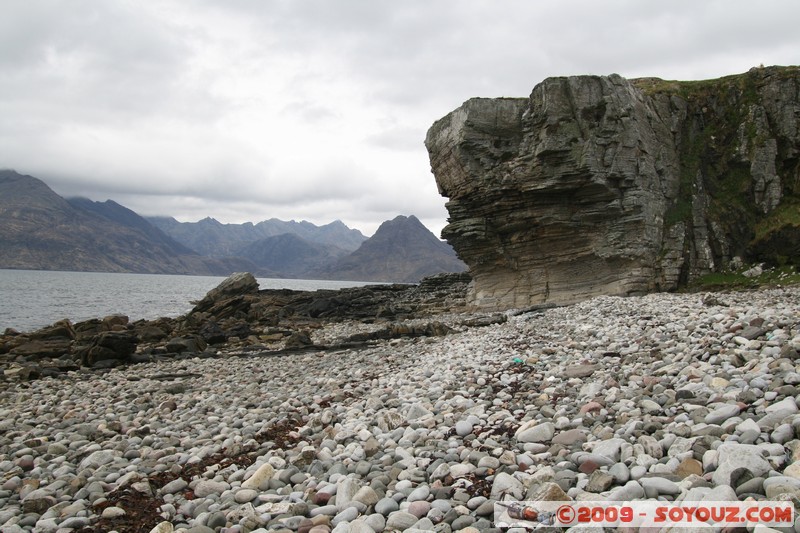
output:
{"label": "calm grey sea water between the mountains and dark rocks", "polygon": [[[69,318],[73,322],[123,314],[131,320],[175,317],[224,280],[214,276],[109,274],[0,269],[0,332],[31,331]],[[358,281],[259,278],[262,289],[340,289]]]}

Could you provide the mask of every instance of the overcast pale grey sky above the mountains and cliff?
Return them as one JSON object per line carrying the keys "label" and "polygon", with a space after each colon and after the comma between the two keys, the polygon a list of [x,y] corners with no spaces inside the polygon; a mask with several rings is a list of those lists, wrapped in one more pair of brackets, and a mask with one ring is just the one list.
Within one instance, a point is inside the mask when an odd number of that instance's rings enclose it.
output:
{"label": "overcast pale grey sky above the mountains and cliff", "polygon": [[3,0],[0,168],[183,222],[438,235],[425,134],[465,100],[797,65],[798,21],[797,0]]}

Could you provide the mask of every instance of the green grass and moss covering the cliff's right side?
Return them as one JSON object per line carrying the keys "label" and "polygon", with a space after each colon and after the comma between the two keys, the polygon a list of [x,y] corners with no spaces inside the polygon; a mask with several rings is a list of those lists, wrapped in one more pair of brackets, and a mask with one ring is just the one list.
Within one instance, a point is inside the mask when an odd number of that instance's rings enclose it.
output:
{"label": "green grass and moss covering the cliff's right side", "polygon": [[[780,267],[756,278],[747,278],[741,272],[708,274],[692,282],[688,290],[749,289],[800,283],[800,274],[786,270],[792,264],[800,268],[800,262],[796,257],[781,256],[784,252],[779,245],[786,231],[800,228],[800,191],[788,178],[795,169],[777,169],[779,175],[787,176],[783,197],[776,209],[764,214],[755,203],[750,163],[738,153],[742,144],[747,150],[763,145],[765,139],[760,136],[769,134],[768,131],[759,133],[759,122],[751,116],[754,104],[759,102],[764,80],[795,79],[799,74],[799,67],[759,67],[715,80],[631,80],[645,95],[659,95],[661,105],[666,105],[664,97],[678,98],[686,104],[688,116],[676,146],[680,169],[678,190],[665,213],[665,228],[681,222],[693,223],[693,204],[702,186],[710,200],[705,213],[708,222],[732,240],[749,242],[748,249],[756,253],[752,257]],[[786,164],[796,165],[796,162]]]}

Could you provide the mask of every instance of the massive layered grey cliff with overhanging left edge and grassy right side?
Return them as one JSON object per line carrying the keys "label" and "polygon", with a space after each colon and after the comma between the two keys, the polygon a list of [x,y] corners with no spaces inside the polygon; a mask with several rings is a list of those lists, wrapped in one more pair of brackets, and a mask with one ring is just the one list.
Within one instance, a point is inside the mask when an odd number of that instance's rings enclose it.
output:
{"label": "massive layered grey cliff with overhanging left edge and grassy right side", "polygon": [[800,259],[800,69],[551,78],[476,98],[425,144],[478,307],[673,290]]}

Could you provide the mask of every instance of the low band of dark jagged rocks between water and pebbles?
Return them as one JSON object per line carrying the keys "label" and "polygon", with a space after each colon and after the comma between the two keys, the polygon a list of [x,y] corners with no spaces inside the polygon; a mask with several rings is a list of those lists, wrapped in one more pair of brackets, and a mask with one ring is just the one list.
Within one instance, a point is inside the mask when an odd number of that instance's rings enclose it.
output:
{"label": "low band of dark jagged rocks between water and pebbles", "polygon": [[164,358],[212,357],[220,352],[278,354],[324,350],[310,332],[330,322],[385,324],[348,344],[395,337],[444,335],[434,321],[406,324],[464,310],[470,277],[439,274],[417,285],[367,285],[340,290],[259,290],[250,273],[237,273],[212,289],[181,317],[138,320],[112,315],[72,324],[62,320],[38,331],[0,335],[0,379],[57,376],[80,367],[103,369]]}

